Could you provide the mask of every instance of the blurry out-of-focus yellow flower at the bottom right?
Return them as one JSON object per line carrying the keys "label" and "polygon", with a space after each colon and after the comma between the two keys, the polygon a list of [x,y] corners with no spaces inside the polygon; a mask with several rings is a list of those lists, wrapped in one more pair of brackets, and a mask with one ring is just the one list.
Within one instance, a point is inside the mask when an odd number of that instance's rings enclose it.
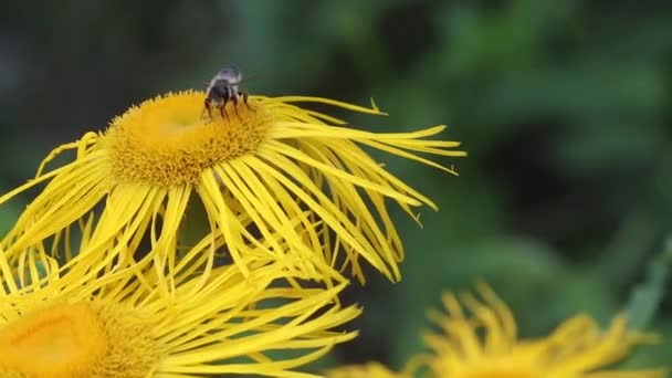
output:
{"label": "blurry out-of-focus yellow flower at the bottom right", "polygon": [[[430,318],[442,334],[428,334],[433,350],[428,359],[433,377],[451,378],[578,378],[664,377],[662,370],[615,371],[603,368],[623,359],[650,337],[628,330],[623,316],[610,327],[586,315],[575,316],[550,335],[518,339],[515,319],[502,300],[486,285],[477,286],[484,302],[470,294],[462,305],[453,294],[443,296],[448,314],[433,312]],[[464,312],[464,307],[471,315]]]}

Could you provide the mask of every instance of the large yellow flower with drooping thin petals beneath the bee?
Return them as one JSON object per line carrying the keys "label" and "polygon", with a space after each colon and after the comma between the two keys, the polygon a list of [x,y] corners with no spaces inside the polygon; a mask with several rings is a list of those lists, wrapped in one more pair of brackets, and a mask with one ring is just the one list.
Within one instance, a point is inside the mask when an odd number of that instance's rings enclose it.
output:
{"label": "large yellow flower with drooping thin petals beneath the bee", "polygon": [[[370,133],[343,127],[342,120],[294,103],[385,114],[375,106],[252,96],[249,108],[229,104],[225,117],[214,112],[209,118],[203,117],[203,98],[201,92],[185,92],[146,101],[116,117],[105,133],[88,133],[52,151],[35,179],[0,198],[3,203],[49,181],[3,240],[8,255],[43,243],[45,249],[69,251],[52,244],[66,244],[71,228],[78,232],[77,228],[90,227],[95,242],[86,253],[126,253],[120,260],[149,253],[168,260],[170,270],[175,259],[167,254],[179,244],[187,209],[202,207],[207,216],[200,221],[208,232],[223,235],[225,250],[245,275],[250,267],[243,255],[261,237],[269,240],[267,253],[292,251],[301,256],[296,261],[326,274],[317,279],[339,279],[329,270],[349,266],[364,281],[363,258],[387,277],[399,280],[403,249],[387,201],[397,202],[413,218],[412,207],[435,206],[361,147],[451,174],[452,168],[419,154],[465,155],[455,149],[459,143],[427,138],[444,126]],[[44,169],[70,149],[76,150],[73,161]],[[137,252],[139,242],[109,248],[111,242],[128,238],[120,235],[148,233],[149,252]],[[286,249],[274,242],[275,234],[283,237]]]}

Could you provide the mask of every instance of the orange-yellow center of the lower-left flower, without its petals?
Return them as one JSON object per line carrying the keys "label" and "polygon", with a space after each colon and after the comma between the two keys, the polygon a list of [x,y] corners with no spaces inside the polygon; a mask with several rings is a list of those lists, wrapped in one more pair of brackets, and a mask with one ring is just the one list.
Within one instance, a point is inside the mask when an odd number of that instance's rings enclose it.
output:
{"label": "orange-yellow center of the lower-left flower, without its petals", "polygon": [[0,376],[144,377],[157,360],[146,328],[104,303],[33,311],[0,328]]}

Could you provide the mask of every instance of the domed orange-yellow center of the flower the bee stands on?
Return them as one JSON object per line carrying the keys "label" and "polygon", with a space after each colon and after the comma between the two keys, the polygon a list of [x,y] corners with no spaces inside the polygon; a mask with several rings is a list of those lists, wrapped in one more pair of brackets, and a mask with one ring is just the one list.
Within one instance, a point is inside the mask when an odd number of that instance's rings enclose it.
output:
{"label": "domed orange-yellow center of the flower the bee stands on", "polygon": [[101,140],[114,178],[164,187],[193,183],[214,164],[254,153],[269,112],[258,103],[229,103],[224,117],[218,109],[209,117],[204,97],[202,92],[169,94],[116,117]]}

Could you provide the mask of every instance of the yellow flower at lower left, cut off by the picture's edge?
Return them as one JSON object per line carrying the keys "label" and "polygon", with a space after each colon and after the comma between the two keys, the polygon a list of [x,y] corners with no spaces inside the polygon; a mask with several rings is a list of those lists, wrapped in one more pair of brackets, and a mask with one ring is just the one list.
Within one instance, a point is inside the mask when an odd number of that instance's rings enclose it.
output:
{"label": "yellow flower at lower left, cut off by the picture's edge", "polygon": [[185,274],[167,297],[154,270],[63,272],[44,259],[20,277],[0,254],[1,377],[306,377],[293,370],[356,336],[332,330],[359,314],[336,303],[345,284],[301,288],[279,264]]}

